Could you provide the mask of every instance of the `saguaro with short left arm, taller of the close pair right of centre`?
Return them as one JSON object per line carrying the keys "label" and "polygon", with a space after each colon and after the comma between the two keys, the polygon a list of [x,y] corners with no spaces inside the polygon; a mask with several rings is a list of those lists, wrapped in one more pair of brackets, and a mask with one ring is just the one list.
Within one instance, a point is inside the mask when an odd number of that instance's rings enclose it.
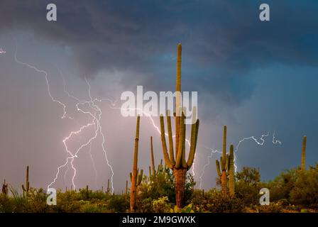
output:
{"label": "saguaro with short left arm, taller of the close pair right of centre", "polygon": [[[221,167],[220,167],[221,162]],[[229,155],[226,155],[226,126],[224,126],[223,134],[223,152],[219,160],[216,160],[216,171],[221,178],[221,190],[223,194],[227,193],[227,176],[229,176]]]}

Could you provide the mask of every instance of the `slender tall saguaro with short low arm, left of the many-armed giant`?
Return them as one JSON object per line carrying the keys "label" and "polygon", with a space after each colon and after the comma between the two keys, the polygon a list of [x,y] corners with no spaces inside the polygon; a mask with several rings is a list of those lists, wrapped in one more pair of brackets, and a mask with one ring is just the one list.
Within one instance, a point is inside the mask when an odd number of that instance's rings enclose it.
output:
{"label": "slender tall saguaro with short low arm, left of the many-armed giant", "polygon": [[139,125],[141,117],[137,117],[135,148],[133,154],[133,172],[131,173],[131,212],[135,211],[137,187],[143,179],[143,170],[138,174],[138,142],[139,142]]}

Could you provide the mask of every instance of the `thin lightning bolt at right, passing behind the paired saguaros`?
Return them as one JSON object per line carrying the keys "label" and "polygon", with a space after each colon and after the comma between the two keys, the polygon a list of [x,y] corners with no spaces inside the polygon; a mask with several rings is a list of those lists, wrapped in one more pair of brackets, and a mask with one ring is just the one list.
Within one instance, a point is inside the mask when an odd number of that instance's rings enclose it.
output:
{"label": "thin lightning bolt at right, passing behind the paired saguaros", "polygon": [[[243,138],[243,139],[238,141],[238,143],[236,145],[236,149],[234,150],[234,168],[235,168],[235,172],[237,172],[237,165],[236,165],[237,155],[236,155],[236,153],[238,153],[238,148],[240,147],[241,143],[243,143],[246,140],[253,140],[257,145],[263,146],[264,143],[265,143],[265,139],[264,138],[268,137],[268,135],[269,135],[269,133],[263,134],[259,140],[257,138],[255,138],[255,136],[251,136],[251,137]],[[279,145],[282,144],[280,140],[275,140],[275,131],[274,131],[274,133],[273,133],[273,144],[277,144],[277,143]],[[205,164],[203,166],[202,174],[199,177],[199,179],[200,179],[199,187],[200,188],[202,188],[202,179],[203,179],[203,176],[204,176],[204,173],[205,173],[205,168],[210,165],[210,159],[212,159],[213,154],[215,154],[215,153],[221,154],[221,151],[219,151],[219,150],[215,150],[215,149],[208,148],[208,147],[205,147],[205,146],[203,146],[203,147],[206,148],[207,150],[211,150],[211,153],[208,155],[207,164]]]}

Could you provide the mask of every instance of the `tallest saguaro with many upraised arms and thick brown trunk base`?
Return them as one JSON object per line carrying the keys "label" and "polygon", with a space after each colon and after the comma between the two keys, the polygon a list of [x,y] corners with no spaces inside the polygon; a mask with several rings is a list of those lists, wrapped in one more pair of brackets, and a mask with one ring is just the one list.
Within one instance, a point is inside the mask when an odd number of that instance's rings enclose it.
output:
{"label": "tallest saguaro with many upraised arms and thick brown trunk base", "polygon": [[[193,164],[195,149],[197,146],[197,134],[199,131],[199,120],[192,124],[191,139],[190,139],[190,152],[186,161],[185,157],[185,114],[178,111],[181,110],[181,99],[178,92],[181,91],[181,44],[177,47],[177,79],[176,79],[176,111],[175,116],[175,152],[172,140],[172,128],[170,113],[167,114],[168,126],[168,141],[169,141],[169,154],[167,144],[165,141],[165,123],[163,116],[160,116],[160,133],[161,143],[163,145],[163,156],[165,158],[165,165],[167,165],[175,176],[175,197],[177,207],[181,208],[184,205],[185,199],[185,178],[187,171]],[[196,110],[193,111],[196,113]]]}

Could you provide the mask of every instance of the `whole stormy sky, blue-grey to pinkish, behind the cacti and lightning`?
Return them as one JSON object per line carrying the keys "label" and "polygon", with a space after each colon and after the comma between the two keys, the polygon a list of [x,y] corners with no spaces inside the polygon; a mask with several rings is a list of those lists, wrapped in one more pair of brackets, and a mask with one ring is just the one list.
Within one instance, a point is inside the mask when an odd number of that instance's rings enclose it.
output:
{"label": "whole stormy sky, blue-grey to pinkish, behind the cacti and lightning", "polygon": [[[260,167],[262,179],[300,165],[307,135],[307,165],[318,161],[318,2],[270,1],[270,21],[258,18],[263,1],[54,1],[57,21],[46,21],[51,1],[0,2],[0,180],[14,187],[30,165],[33,187],[47,187],[66,161],[62,143],[92,121],[77,111],[75,99],[89,99],[84,78],[99,102],[106,155],[114,189],[124,190],[132,169],[136,118],[117,109],[124,91],[173,91],[177,43],[182,43],[182,90],[198,92],[201,120],[194,179],[197,187],[215,185],[215,159],[222,128],[238,147],[238,170]],[[16,58],[18,61],[15,60]],[[18,62],[26,62],[48,73]],[[61,76],[62,74],[62,76]],[[65,84],[63,82],[65,79]],[[60,102],[60,103],[59,103]],[[63,116],[63,106],[67,118]],[[88,106],[82,106],[82,109]],[[72,119],[71,119],[72,118]],[[154,118],[158,125],[158,118]],[[188,129],[190,131],[190,128]],[[282,144],[273,143],[275,139]],[[71,153],[87,143],[94,128],[67,140]],[[155,162],[163,157],[160,135],[141,118],[139,166],[148,173],[150,135]],[[275,140],[274,140],[275,141]],[[79,150],[73,164],[77,188],[106,187],[112,175],[102,136]],[[94,165],[93,165],[94,163]],[[209,165],[207,165],[209,163]],[[52,185],[72,185],[72,168],[61,168]],[[202,171],[205,171],[202,175]],[[191,171],[192,172],[192,171]],[[201,184],[200,184],[201,183]]]}

